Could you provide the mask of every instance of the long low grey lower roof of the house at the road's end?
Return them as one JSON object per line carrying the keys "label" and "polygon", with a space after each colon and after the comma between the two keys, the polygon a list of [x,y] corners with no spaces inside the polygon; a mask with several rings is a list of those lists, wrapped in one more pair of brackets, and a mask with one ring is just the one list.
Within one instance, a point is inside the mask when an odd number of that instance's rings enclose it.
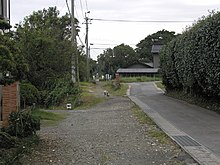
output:
{"label": "long low grey lower roof of the house at the road's end", "polygon": [[117,73],[158,73],[158,68],[120,68]]}

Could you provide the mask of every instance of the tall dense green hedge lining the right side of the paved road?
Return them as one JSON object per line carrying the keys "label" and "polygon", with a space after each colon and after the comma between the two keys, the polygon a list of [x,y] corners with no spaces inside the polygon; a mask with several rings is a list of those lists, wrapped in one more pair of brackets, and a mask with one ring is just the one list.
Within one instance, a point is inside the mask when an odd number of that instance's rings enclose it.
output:
{"label": "tall dense green hedge lining the right side of the paved road", "polygon": [[163,47],[163,83],[169,90],[220,98],[220,13],[201,18]]}

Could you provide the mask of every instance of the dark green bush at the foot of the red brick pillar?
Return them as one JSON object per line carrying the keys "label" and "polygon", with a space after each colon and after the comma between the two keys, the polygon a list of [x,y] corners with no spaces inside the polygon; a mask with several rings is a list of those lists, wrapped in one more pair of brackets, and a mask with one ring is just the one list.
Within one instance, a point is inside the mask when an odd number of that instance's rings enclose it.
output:
{"label": "dark green bush at the foot of the red brick pillar", "polygon": [[33,117],[31,111],[12,112],[9,115],[9,126],[5,131],[11,136],[28,137],[40,130],[40,119]]}

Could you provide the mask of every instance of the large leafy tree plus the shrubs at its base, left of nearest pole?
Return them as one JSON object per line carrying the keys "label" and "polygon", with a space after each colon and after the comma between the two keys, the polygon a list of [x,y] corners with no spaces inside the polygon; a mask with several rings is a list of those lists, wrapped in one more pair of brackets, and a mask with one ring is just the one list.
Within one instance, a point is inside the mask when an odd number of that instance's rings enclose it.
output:
{"label": "large leafy tree plus the shrubs at its base, left of nearest pole", "polygon": [[[77,26],[78,21],[75,23]],[[14,40],[30,68],[21,88],[23,101],[49,107],[59,105],[67,96],[76,98],[79,88],[70,81],[70,74],[71,57],[78,50],[72,47],[68,14],[59,16],[56,7],[33,12],[17,25]]]}

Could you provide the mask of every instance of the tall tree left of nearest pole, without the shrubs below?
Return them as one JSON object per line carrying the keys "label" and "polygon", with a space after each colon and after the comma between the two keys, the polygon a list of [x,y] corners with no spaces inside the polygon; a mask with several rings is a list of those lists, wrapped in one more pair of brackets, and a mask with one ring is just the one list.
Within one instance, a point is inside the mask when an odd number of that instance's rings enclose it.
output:
{"label": "tall tree left of nearest pole, without the shrubs below", "polygon": [[70,17],[59,17],[56,7],[33,12],[17,26],[15,39],[30,65],[28,80],[33,85],[44,88],[47,80],[70,73],[70,34]]}

